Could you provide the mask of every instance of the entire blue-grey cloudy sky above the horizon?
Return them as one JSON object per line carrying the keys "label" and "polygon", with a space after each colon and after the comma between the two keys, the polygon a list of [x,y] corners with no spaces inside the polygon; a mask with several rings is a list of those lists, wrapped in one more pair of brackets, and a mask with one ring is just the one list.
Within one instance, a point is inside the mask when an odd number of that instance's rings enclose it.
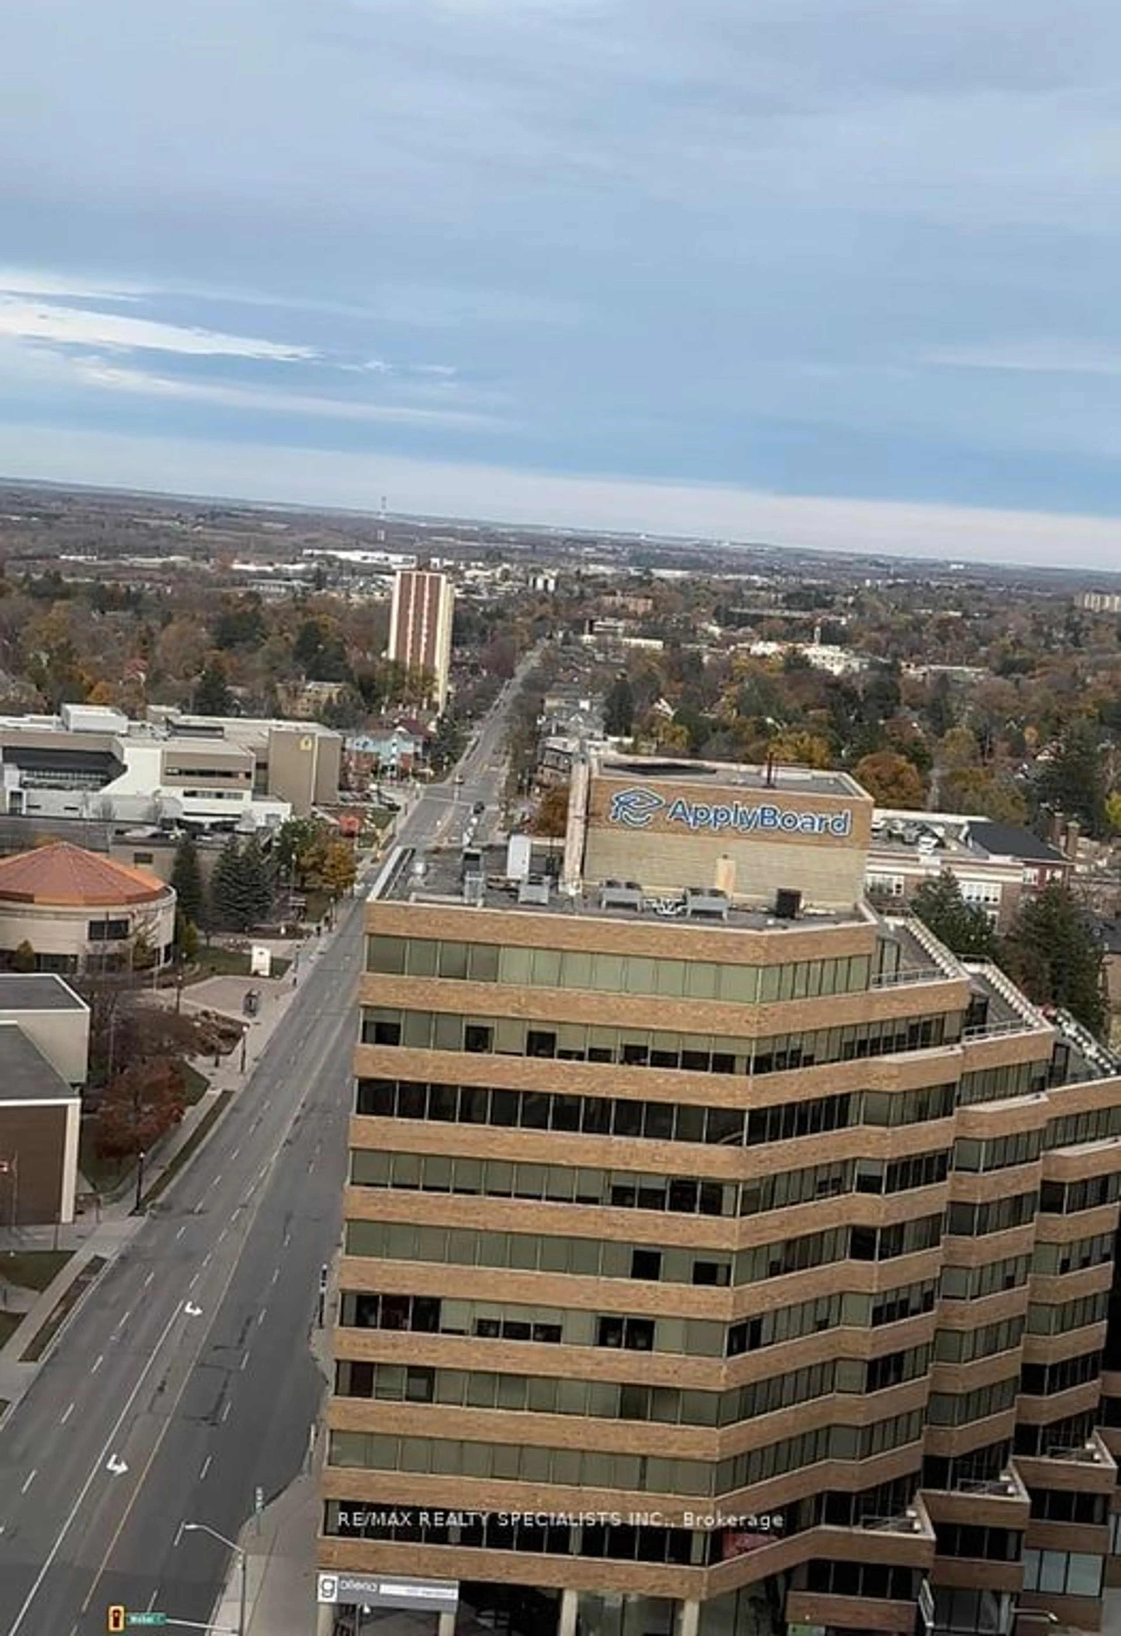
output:
{"label": "entire blue-grey cloudy sky above the horizon", "polygon": [[0,473],[1121,569],[1116,0],[34,0]]}

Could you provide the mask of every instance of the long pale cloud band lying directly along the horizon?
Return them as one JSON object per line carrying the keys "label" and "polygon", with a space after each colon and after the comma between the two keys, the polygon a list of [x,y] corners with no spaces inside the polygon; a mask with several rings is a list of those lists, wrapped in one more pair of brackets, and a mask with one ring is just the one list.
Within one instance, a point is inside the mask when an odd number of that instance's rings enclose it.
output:
{"label": "long pale cloud band lying directly along the horizon", "polygon": [[0,427],[0,470],[25,479],[281,506],[376,510],[388,494],[398,512],[951,561],[1116,568],[1121,560],[1121,522],[1108,517],[551,476],[370,452]]}

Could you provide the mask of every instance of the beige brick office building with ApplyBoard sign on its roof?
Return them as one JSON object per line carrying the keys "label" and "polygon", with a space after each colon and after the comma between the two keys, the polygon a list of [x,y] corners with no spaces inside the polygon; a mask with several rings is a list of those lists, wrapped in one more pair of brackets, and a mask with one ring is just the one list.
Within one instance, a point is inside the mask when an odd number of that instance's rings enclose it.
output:
{"label": "beige brick office building with ApplyBoard sign on its roof", "polygon": [[869,820],[594,759],[551,887],[389,861],[324,1572],[522,1636],[1096,1626],[1121,1081],[869,910]]}

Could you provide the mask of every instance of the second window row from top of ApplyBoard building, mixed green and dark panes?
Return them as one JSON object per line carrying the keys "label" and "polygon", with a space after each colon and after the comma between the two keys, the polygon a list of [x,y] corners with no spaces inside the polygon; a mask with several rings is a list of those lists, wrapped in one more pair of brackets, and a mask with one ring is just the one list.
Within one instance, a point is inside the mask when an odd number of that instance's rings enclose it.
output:
{"label": "second window row from top of ApplyBoard building, mixed green and dark panes", "polygon": [[455,1011],[401,1011],[363,1006],[365,1045],[406,1045],[499,1057],[558,1057],[568,1062],[620,1063],[633,1068],[681,1068],[689,1073],[761,1075],[856,1062],[897,1052],[957,1044],[961,1016],[892,1018],[846,1027],[728,1039],[589,1022],[527,1022],[524,1018],[476,1018]]}

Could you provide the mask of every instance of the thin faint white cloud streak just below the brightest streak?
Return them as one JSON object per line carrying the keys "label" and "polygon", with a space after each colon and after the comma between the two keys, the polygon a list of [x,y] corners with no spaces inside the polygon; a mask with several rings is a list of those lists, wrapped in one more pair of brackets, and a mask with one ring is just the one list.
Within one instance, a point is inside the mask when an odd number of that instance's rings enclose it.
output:
{"label": "thin faint white cloud streak just below the brightest streak", "polygon": [[244,409],[257,414],[301,416],[322,420],[375,420],[394,425],[445,427],[448,430],[496,425],[489,416],[465,409],[424,409],[416,404],[371,404],[349,398],[321,398],[314,393],[277,393],[223,381],[183,381],[146,370],[119,368],[101,358],[79,358],[77,375],[88,386],[134,393],[175,402],[209,404],[214,409]]}

